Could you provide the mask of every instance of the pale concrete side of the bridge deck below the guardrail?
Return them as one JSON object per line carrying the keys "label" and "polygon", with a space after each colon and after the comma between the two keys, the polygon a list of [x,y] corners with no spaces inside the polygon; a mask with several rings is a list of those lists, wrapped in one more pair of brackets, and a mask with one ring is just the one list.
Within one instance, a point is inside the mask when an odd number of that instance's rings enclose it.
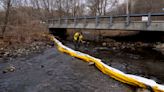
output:
{"label": "pale concrete side of the bridge deck below the guardrail", "polygon": [[124,22],[117,22],[110,26],[107,23],[101,23],[96,25],[95,23],[83,23],[70,24],[49,24],[49,28],[70,28],[70,29],[119,29],[119,30],[136,30],[136,31],[164,31],[164,21],[152,22],[150,26],[147,26],[146,22],[131,22],[130,25],[126,25]]}

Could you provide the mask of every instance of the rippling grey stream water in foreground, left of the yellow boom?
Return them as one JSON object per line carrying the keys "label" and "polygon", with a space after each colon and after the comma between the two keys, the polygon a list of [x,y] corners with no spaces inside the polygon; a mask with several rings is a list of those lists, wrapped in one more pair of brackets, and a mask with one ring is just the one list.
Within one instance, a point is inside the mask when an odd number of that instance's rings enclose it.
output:
{"label": "rippling grey stream water in foreground, left of the yellow boom", "polygon": [[[3,73],[10,65],[15,71]],[[0,92],[135,92],[56,48],[0,63],[0,71]]]}

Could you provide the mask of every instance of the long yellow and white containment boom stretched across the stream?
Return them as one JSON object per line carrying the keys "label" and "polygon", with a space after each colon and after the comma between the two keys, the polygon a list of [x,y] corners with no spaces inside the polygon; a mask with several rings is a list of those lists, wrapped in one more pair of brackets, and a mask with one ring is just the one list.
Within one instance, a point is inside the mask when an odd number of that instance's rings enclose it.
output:
{"label": "long yellow and white containment boom stretched across the stream", "polygon": [[151,89],[154,92],[164,92],[164,85],[157,84],[154,80],[146,79],[144,77],[139,77],[136,75],[125,74],[120,70],[112,68],[106,64],[104,64],[100,59],[92,57],[88,54],[81,53],[79,51],[72,50],[66,46],[64,46],[59,40],[57,40],[54,36],[49,36],[52,41],[56,44],[59,51],[67,53],[72,57],[76,57],[82,59],[86,62],[94,62],[95,66],[102,71],[104,74],[109,75],[110,77],[137,87],[142,87],[145,89]]}

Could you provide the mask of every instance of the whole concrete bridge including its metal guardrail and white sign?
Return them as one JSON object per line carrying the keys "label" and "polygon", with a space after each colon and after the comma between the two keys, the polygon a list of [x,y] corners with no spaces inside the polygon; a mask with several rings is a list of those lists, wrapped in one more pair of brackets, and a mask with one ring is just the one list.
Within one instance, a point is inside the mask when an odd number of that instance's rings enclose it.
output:
{"label": "whole concrete bridge including its metal guardrail and white sign", "polygon": [[48,20],[49,29],[164,31],[164,13],[64,17]]}

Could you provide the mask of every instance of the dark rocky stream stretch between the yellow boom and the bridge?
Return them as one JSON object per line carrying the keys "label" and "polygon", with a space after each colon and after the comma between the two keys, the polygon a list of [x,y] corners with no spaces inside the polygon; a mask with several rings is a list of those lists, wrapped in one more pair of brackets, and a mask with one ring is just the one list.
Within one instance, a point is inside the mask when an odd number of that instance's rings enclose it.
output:
{"label": "dark rocky stream stretch between the yellow boom and the bridge", "polygon": [[[125,73],[153,79],[163,84],[164,55],[154,49],[157,44],[161,43],[108,39],[98,43],[86,42],[79,50],[100,58],[104,63]],[[74,48],[71,42],[67,42],[67,46]]]}

